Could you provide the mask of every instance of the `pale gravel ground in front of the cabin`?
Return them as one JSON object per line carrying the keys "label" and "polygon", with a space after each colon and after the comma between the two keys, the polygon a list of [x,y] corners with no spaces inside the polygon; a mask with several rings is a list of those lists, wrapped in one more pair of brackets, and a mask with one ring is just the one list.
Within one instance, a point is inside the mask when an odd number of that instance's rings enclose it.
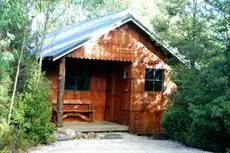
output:
{"label": "pale gravel ground in front of the cabin", "polygon": [[[117,133],[116,133],[117,134]],[[119,133],[122,139],[59,141],[31,149],[30,153],[208,153],[169,140]]]}

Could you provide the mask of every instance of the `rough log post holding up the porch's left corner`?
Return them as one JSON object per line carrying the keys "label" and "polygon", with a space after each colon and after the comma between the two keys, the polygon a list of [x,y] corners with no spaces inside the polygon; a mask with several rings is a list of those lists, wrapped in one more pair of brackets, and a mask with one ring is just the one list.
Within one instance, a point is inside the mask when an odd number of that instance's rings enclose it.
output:
{"label": "rough log post holding up the porch's left corner", "polygon": [[65,58],[60,59],[57,94],[57,127],[63,126],[63,97],[65,88]]}

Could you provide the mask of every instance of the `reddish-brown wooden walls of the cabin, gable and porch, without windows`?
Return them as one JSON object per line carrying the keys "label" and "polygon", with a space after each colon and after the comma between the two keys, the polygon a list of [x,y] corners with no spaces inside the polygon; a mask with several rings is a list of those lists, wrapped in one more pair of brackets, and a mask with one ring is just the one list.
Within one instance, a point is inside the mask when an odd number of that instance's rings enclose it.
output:
{"label": "reddish-brown wooden walls of the cabin, gable and porch, without windows", "polygon": [[[96,121],[129,125],[130,132],[160,133],[160,121],[176,90],[170,79],[166,56],[140,29],[129,23],[66,55],[67,60],[88,64],[93,70],[90,91],[65,91],[65,100],[90,100]],[[49,62],[48,62],[49,63]],[[52,82],[52,99],[57,97],[56,62],[44,66]],[[164,90],[145,92],[145,69],[164,69]],[[123,72],[128,72],[126,79]],[[67,108],[64,104],[64,109]],[[78,120],[66,118],[65,120]]]}

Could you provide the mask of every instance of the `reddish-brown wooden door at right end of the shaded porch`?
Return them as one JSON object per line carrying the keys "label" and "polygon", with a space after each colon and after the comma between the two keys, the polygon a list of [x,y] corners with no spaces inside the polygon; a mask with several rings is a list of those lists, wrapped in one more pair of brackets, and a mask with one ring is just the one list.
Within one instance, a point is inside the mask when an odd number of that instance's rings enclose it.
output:
{"label": "reddish-brown wooden door at right end of the shaded porch", "polygon": [[107,79],[106,120],[128,125],[130,83],[122,71],[111,72]]}

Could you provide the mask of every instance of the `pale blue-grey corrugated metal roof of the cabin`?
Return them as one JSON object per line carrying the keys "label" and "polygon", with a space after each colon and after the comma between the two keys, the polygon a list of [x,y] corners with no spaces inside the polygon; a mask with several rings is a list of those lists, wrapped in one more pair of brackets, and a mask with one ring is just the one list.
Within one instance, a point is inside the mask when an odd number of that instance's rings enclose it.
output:
{"label": "pale blue-grey corrugated metal roof of the cabin", "polygon": [[185,57],[172,48],[169,43],[159,41],[159,36],[146,27],[139,17],[129,10],[111,13],[96,19],[82,21],[49,33],[44,40],[42,58],[57,60],[70,53],[95,36],[101,36],[122,24],[132,21],[144,32],[146,32],[163,49],[175,56],[179,61],[187,63]]}

